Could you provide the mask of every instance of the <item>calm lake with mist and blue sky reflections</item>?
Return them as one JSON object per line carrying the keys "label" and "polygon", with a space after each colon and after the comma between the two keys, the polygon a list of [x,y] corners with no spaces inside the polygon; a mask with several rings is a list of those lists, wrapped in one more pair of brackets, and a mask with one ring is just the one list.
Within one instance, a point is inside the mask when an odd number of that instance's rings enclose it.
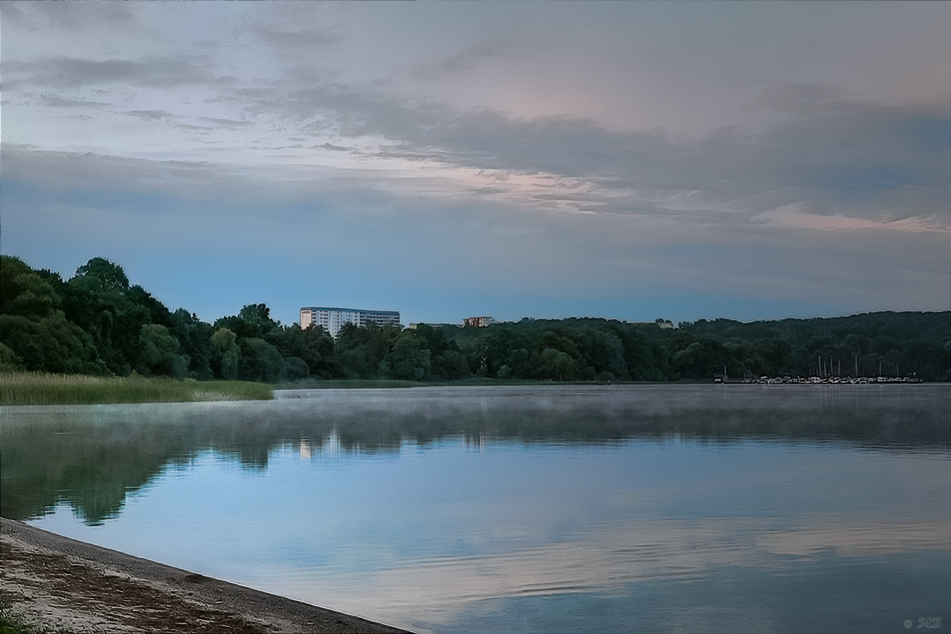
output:
{"label": "calm lake with mist and blue sky reflections", "polygon": [[0,514],[419,632],[951,626],[951,385],[4,407]]}

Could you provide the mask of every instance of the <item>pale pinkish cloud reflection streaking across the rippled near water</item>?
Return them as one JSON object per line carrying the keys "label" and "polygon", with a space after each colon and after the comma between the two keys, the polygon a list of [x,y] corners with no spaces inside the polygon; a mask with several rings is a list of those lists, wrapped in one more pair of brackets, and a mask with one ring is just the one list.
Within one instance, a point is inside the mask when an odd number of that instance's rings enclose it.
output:
{"label": "pale pinkish cloud reflection streaking across the rippled near water", "polygon": [[[417,627],[419,621],[445,622],[475,601],[567,592],[611,594],[637,582],[699,580],[710,566],[768,569],[776,565],[773,555],[811,557],[834,548],[850,556],[874,556],[951,548],[951,520],[788,529],[771,528],[772,522],[744,517],[695,526],[671,521],[593,528],[583,540],[406,561],[349,579],[315,579],[313,571],[291,573],[291,579],[288,571],[274,570],[276,581],[265,589]],[[268,572],[259,572],[260,583]]]}

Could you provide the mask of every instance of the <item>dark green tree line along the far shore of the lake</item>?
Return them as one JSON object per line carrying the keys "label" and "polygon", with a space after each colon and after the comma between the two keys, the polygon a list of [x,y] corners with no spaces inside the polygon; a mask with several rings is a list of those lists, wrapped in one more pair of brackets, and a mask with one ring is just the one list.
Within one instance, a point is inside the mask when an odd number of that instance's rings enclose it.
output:
{"label": "dark green tree line along the far shore of the lake", "polygon": [[951,312],[743,323],[532,319],[486,328],[283,325],[263,303],[208,323],[169,310],[121,266],[93,258],[70,279],[0,256],[0,371],[281,382],[672,381],[809,375],[951,380]]}

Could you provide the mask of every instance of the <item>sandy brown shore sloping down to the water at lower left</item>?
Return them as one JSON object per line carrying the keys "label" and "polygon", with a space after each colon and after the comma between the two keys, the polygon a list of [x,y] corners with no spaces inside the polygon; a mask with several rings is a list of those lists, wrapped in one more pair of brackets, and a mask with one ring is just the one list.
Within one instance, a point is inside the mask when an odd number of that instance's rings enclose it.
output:
{"label": "sandy brown shore sloping down to the water at lower left", "polygon": [[6,518],[0,561],[0,609],[38,631],[405,631]]}

